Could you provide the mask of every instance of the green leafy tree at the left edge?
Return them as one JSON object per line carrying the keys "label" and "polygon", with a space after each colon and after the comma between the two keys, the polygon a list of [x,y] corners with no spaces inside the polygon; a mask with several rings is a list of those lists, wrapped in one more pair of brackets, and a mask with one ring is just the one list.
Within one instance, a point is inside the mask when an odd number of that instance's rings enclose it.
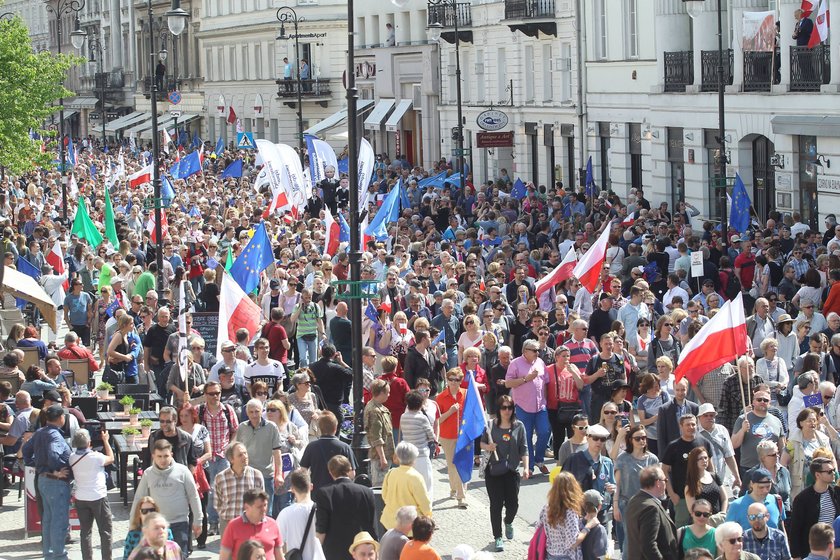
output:
{"label": "green leafy tree at the left edge", "polygon": [[19,17],[0,20],[0,165],[19,174],[49,166],[53,155],[41,153],[42,138],[61,97],[73,95],[64,85],[71,66],[83,59],[51,52],[33,53],[29,31]]}

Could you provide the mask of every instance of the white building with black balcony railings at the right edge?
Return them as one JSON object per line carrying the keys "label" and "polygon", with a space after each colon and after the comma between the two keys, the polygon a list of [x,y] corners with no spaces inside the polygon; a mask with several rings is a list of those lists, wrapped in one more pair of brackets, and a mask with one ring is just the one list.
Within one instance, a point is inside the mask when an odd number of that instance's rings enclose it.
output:
{"label": "white building with black balcony railings at the right edge", "polygon": [[[644,186],[654,204],[673,208],[686,200],[702,217],[719,217],[717,4],[697,4],[694,19],[682,0],[583,4],[587,140],[596,180],[606,177],[621,196]],[[799,6],[799,0],[722,3],[726,175],[740,174],[762,221],[774,209],[801,211],[806,223],[822,227],[820,215],[840,211],[840,176],[824,163],[840,155],[840,118],[833,115],[840,45],[797,47]],[[742,47],[745,12],[763,11],[775,12],[780,23],[777,57]]]}

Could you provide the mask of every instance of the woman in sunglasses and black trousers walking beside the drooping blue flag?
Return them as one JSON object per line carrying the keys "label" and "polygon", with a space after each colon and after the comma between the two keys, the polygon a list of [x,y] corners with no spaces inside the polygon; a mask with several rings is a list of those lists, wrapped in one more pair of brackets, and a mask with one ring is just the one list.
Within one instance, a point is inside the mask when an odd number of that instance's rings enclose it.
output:
{"label": "woman in sunglasses and black trousers walking beside the drooping blue flag", "polygon": [[502,508],[505,509],[505,538],[513,538],[513,520],[519,510],[519,465],[524,477],[531,476],[525,425],[516,419],[513,399],[502,395],[496,401],[499,415],[481,436],[481,449],[490,453],[484,485],[490,498],[490,525],[496,540],[496,552],[504,550]]}

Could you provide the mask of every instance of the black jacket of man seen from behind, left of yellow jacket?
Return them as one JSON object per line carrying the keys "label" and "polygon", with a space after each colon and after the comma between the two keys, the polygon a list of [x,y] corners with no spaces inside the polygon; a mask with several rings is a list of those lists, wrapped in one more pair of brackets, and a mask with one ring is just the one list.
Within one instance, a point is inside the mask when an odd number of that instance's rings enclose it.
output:
{"label": "black jacket of man seen from behind, left of yellow jacket", "polygon": [[349,478],[315,490],[315,531],[326,535],[324,556],[330,560],[351,560],[350,545],[360,531],[375,539],[373,490]]}

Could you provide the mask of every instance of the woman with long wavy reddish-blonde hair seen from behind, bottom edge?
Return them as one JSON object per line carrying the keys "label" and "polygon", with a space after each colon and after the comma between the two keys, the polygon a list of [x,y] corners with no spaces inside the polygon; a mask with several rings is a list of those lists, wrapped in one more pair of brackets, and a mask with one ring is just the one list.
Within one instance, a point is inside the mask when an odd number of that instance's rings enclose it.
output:
{"label": "woman with long wavy reddish-blonde hair seen from behind, bottom edge", "polygon": [[595,516],[581,529],[583,491],[575,477],[560,472],[548,491],[548,503],[543,506],[536,528],[545,530],[545,549],[549,559],[582,560],[580,545],[589,531],[598,525]]}

